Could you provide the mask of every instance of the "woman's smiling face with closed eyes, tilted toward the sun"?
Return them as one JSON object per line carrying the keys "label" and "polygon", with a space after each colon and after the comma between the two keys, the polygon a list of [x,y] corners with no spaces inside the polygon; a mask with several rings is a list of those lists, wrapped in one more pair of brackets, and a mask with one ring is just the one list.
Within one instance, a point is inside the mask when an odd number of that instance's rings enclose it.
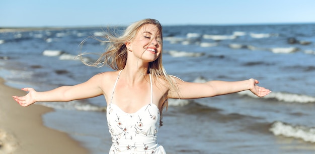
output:
{"label": "woman's smiling face with closed eyes, tilted toward the sun", "polygon": [[137,58],[144,62],[153,62],[162,52],[161,32],[155,25],[143,25],[134,40],[126,43],[126,46]]}

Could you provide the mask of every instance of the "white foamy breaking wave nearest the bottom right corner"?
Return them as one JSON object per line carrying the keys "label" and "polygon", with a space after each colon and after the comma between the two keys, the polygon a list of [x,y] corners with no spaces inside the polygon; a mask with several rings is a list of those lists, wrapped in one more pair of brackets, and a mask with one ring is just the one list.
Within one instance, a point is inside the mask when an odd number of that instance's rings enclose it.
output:
{"label": "white foamy breaking wave nearest the bottom right corner", "polygon": [[304,141],[315,143],[315,128],[303,125],[291,125],[281,121],[275,121],[269,128],[274,135],[300,138]]}

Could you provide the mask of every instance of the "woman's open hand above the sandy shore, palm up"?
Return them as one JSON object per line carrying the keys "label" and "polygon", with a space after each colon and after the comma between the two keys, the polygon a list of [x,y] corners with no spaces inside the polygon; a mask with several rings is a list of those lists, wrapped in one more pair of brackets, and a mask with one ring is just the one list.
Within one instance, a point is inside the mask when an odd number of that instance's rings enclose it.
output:
{"label": "woman's open hand above the sandy shore, palm up", "polygon": [[36,102],[34,99],[36,91],[33,88],[22,88],[22,90],[28,91],[28,93],[25,96],[12,96],[13,99],[24,107],[34,104]]}

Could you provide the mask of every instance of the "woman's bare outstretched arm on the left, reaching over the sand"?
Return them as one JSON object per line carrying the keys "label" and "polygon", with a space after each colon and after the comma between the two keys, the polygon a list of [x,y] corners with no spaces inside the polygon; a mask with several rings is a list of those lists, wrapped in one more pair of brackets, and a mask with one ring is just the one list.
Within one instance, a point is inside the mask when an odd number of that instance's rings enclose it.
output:
{"label": "woman's bare outstretched arm on the left, reaching over the sand", "polygon": [[95,75],[90,80],[74,86],[61,86],[44,92],[37,92],[33,88],[23,88],[28,91],[25,96],[12,96],[21,106],[29,106],[40,101],[71,101],[96,97],[103,94],[99,85],[102,83],[101,75]]}

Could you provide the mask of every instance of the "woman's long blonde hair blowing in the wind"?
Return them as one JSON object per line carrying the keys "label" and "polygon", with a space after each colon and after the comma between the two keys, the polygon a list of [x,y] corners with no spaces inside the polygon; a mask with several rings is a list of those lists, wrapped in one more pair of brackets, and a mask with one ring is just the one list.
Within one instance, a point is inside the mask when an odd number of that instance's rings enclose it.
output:
{"label": "woman's long blonde hair blowing in the wind", "polygon": [[[107,65],[114,70],[122,70],[125,68],[127,61],[127,47],[125,43],[131,42],[136,37],[140,28],[146,24],[155,25],[156,28],[159,29],[159,32],[161,34],[161,46],[163,49],[162,26],[160,22],[154,19],[144,19],[128,26],[121,36],[118,36],[115,33],[110,33],[108,29],[107,32],[104,32],[102,40],[96,39],[101,41],[102,43],[108,44],[105,52],[98,58],[96,62],[86,62],[84,58],[82,58],[82,56],[85,54],[80,54],[78,55],[78,57],[85,65],[88,66],[102,67],[104,65]],[[83,45],[84,42],[85,41],[81,43],[81,46]],[[163,79],[166,81],[166,83],[168,83],[168,85],[165,86],[172,87],[172,89],[177,89],[174,83],[174,79],[166,73],[162,65],[162,54],[160,54],[160,56],[155,61],[149,63],[147,73],[150,73],[153,76],[155,82],[160,81],[159,79]],[[161,85],[162,83],[159,84]],[[167,110],[168,99],[165,99],[165,102],[162,105],[162,110],[165,107]],[[161,114],[160,126],[163,125],[162,110],[160,111]]]}

